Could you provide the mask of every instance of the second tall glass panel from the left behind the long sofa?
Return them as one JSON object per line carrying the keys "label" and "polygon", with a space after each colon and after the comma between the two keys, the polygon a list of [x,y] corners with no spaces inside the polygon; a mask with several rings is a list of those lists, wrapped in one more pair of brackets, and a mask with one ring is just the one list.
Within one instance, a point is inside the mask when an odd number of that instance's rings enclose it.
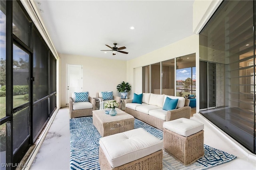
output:
{"label": "second tall glass panel from the left behind the long sofa", "polygon": [[160,94],[160,83],[161,83],[161,71],[160,71],[160,63],[151,65],[151,90],[150,93]]}

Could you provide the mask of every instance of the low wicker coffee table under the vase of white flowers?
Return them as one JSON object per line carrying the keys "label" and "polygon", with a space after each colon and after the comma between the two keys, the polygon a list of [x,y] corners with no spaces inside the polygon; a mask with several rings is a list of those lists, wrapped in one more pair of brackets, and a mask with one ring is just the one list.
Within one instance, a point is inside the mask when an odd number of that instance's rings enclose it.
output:
{"label": "low wicker coffee table under the vase of white flowers", "polygon": [[103,110],[92,111],[92,122],[102,137],[134,129],[134,117],[116,108],[117,115],[110,116]]}

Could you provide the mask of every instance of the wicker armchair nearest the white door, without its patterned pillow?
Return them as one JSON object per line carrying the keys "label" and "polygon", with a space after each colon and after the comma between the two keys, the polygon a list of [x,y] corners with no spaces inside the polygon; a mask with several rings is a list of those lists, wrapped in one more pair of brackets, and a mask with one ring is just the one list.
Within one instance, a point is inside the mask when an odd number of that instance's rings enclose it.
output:
{"label": "wicker armchair nearest the white door, without its patterned pillow", "polygon": [[88,96],[89,102],[76,102],[74,94],[69,98],[69,114],[70,118],[92,116],[92,111],[95,110],[95,99]]}

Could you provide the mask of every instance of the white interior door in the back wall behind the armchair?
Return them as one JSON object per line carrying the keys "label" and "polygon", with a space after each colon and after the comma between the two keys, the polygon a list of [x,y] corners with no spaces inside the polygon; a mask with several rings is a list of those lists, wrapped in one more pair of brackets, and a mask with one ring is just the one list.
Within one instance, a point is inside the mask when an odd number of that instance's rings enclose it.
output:
{"label": "white interior door in the back wall behind the armchair", "polygon": [[72,96],[72,92],[82,92],[82,65],[67,64],[67,101]]}

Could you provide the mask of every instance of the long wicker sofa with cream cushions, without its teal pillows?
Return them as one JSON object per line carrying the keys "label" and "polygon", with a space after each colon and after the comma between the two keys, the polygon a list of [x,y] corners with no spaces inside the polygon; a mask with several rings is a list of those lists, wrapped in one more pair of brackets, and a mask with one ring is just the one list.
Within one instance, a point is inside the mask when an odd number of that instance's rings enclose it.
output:
{"label": "long wicker sofa with cream cushions, without its teal pillows", "polygon": [[[164,110],[166,97],[171,99],[178,98],[177,108],[173,110]],[[182,97],[143,93],[142,104],[132,103],[132,99],[125,100],[125,112],[140,119],[149,125],[163,130],[163,123],[181,117],[190,119],[191,107],[190,100]]]}

